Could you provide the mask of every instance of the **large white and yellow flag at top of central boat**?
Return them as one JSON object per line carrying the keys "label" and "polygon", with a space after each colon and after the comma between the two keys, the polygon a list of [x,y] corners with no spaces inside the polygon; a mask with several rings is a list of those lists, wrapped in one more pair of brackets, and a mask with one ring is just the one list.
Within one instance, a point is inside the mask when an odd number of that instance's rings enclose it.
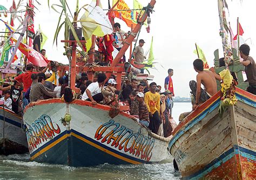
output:
{"label": "large white and yellow flag at top of central boat", "polygon": [[93,1],[81,17],[80,22],[82,24],[83,34],[86,40],[86,50],[91,48],[92,35],[103,37],[106,34],[112,34],[113,29],[109,18],[100,6],[96,6],[96,2]]}

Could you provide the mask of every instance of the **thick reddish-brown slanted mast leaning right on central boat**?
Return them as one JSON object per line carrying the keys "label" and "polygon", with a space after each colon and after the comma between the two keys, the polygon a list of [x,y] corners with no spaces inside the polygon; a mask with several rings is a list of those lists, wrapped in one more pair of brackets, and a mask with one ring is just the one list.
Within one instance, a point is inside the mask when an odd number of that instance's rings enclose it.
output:
{"label": "thick reddish-brown slanted mast leaning right on central boat", "polygon": [[[125,40],[125,43],[124,43],[122,49],[118,52],[116,58],[114,58],[113,63],[110,65],[110,67],[115,67],[119,63],[120,59],[123,57],[123,55],[126,52],[126,50],[128,49],[128,47],[132,44],[133,39],[136,38],[137,33],[139,32],[143,23],[147,19],[147,13],[149,13],[150,10],[153,9],[154,4],[156,4],[156,0],[151,0],[149,5],[147,5],[146,11],[143,13],[143,15],[138,20],[139,23],[134,27],[130,36]],[[107,72],[106,73],[106,77],[107,77],[106,79],[109,79],[110,75],[111,75],[111,72]]]}

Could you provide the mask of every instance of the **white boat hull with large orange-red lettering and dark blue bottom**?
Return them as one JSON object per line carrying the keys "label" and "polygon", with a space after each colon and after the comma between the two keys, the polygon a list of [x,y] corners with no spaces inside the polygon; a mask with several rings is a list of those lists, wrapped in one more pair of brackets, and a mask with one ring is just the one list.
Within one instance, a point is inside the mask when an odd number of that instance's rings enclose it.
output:
{"label": "white boat hull with large orange-red lettering and dark blue bottom", "polygon": [[133,116],[120,112],[111,118],[110,106],[75,100],[69,104],[71,121],[60,99],[30,103],[24,111],[31,160],[86,167],[97,164],[157,163],[170,157],[170,139],[151,134]]}

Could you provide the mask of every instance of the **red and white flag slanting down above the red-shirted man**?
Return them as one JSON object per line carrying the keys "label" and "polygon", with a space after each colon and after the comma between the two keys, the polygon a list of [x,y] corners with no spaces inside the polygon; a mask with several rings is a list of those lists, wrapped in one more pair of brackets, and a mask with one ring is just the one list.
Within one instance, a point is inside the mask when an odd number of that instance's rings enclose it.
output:
{"label": "red and white flag slanting down above the red-shirted man", "polygon": [[45,67],[49,63],[48,59],[46,59],[41,53],[37,52],[32,47],[28,47],[28,45],[23,43],[19,44],[19,51],[21,51],[35,66]]}

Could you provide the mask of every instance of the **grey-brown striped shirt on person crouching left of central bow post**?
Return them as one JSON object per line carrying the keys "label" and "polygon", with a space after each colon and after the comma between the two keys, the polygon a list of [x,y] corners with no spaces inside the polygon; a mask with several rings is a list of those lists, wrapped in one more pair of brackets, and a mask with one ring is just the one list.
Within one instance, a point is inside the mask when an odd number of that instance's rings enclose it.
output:
{"label": "grey-brown striped shirt on person crouching left of central bow post", "polygon": [[30,102],[35,102],[37,100],[43,100],[44,95],[50,96],[52,98],[56,97],[56,92],[51,92],[44,87],[41,82],[32,82],[31,90],[29,94]]}

